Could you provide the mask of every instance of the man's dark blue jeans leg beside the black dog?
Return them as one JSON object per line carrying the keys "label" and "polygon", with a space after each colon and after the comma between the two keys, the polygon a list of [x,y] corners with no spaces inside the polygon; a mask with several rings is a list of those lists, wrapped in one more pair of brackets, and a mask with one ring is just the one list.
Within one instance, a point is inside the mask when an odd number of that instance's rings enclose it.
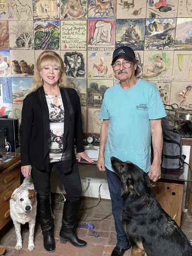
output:
{"label": "man's dark blue jeans leg beside the black dog", "polygon": [[117,232],[117,246],[126,250],[131,244],[121,223],[121,215],[123,210],[121,200],[122,182],[120,177],[115,172],[109,171],[106,168],[106,173],[108,178],[108,189],[111,197],[112,213],[115,219],[115,230]]}

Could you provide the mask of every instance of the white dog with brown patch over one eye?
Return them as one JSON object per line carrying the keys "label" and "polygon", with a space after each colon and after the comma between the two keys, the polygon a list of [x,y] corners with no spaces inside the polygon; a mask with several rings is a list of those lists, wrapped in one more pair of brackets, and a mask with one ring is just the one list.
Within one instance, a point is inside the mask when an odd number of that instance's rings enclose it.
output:
{"label": "white dog with brown patch over one eye", "polygon": [[21,224],[29,223],[28,250],[32,251],[34,245],[34,228],[36,224],[36,190],[31,176],[24,179],[19,188],[16,188],[10,199],[10,214],[17,236],[16,250],[22,249]]}

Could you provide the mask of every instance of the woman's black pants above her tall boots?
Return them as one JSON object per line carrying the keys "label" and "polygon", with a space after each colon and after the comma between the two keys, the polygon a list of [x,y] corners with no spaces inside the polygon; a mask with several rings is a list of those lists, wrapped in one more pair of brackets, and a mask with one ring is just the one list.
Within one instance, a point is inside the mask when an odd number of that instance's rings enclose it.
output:
{"label": "woman's black pants above her tall boots", "polygon": [[76,162],[72,166],[72,171],[69,173],[63,173],[61,162],[50,163],[50,172],[39,170],[32,165],[31,176],[38,196],[44,198],[50,194],[50,175],[52,168],[64,186],[67,193],[67,199],[70,201],[79,200],[81,198],[82,188]]}

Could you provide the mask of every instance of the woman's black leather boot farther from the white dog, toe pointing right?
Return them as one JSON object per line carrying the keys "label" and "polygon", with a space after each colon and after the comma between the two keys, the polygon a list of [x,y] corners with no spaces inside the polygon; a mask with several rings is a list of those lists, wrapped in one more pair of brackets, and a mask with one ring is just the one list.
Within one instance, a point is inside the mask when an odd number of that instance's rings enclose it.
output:
{"label": "woman's black leather boot farther from the white dog, toe pointing right", "polygon": [[81,199],[78,201],[66,200],[63,207],[62,227],[60,230],[60,243],[66,244],[66,241],[71,243],[75,247],[85,247],[87,243],[77,237],[75,229],[75,221],[79,207],[81,205]]}

